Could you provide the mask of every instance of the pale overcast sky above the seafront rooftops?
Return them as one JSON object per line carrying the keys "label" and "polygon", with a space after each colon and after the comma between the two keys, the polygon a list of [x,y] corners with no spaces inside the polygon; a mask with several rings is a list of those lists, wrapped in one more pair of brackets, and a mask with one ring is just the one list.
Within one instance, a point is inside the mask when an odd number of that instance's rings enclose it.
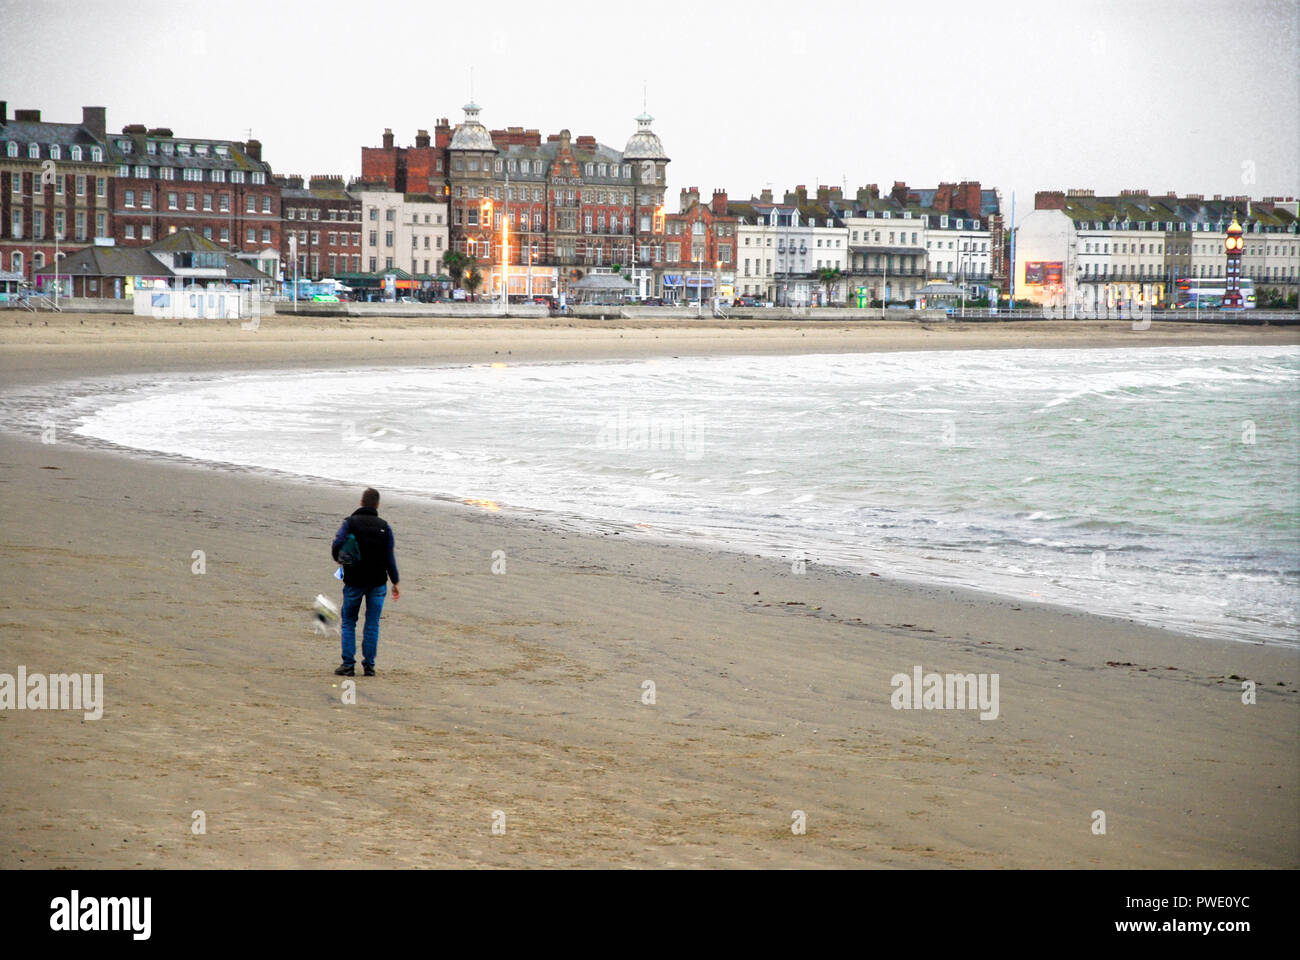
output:
{"label": "pale overcast sky above the seafront rooftops", "polygon": [[[0,0],[0,99],[360,173],[469,99],[623,148],[642,88],[682,186],[979,180],[1300,193],[1297,0],[490,4]],[[670,207],[675,208],[675,199]]]}

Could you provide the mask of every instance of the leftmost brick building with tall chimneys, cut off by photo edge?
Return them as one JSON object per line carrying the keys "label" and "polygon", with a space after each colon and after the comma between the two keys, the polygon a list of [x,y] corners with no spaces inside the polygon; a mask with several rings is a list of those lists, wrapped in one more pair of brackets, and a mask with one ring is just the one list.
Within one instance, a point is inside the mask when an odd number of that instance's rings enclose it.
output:
{"label": "leftmost brick building with tall chimneys, cut off by photo edge", "polygon": [[[52,182],[42,183],[52,163]],[[48,122],[40,111],[0,100],[0,269],[32,271],[108,237],[114,167],[104,144],[104,108],[82,108],[79,124]],[[48,177],[47,177],[48,180]],[[65,281],[66,284],[66,281]]]}

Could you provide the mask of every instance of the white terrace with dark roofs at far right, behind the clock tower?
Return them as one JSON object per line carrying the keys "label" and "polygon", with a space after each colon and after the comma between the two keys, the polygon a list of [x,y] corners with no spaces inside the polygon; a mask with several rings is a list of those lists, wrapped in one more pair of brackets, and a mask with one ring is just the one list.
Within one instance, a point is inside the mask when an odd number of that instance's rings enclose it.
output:
{"label": "white terrace with dark roofs at far right, behind the clock tower", "polygon": [[1244,230],[1243,278],[1282,297],[1300,282],[1300,221],[1292,196],[1218,196],[1123,190],[1043,190],[1017,230],[1015,295],[1084,308],[1167,306],[1182,278],[1221,278],[1223,241]]}

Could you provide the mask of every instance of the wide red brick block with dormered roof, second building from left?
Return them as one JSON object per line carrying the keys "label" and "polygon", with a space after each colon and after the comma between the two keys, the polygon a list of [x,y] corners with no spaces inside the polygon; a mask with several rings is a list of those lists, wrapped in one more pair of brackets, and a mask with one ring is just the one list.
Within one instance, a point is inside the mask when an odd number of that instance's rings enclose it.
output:
{"label": "wide red brick block with dormered roof, second building from left", "polygon": [[188,228],[270,276],[280,269],[280,186],[261,143],[176,137],[143,124],[108,138],[117,167],[109,203],[118,246]]}

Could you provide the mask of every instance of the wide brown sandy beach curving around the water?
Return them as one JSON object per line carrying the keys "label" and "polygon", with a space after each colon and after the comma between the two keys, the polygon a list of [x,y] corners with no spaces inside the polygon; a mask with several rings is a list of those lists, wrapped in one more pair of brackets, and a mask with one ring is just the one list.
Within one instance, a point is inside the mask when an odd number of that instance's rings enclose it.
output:
{"label": "wide brown sandy beach curving around the water", "polygon": [[[1158,321],[244,330],[5,313],[0,386],[1297,342],[1300,328]],[[105,697],[96,721],[0,710],[0,868],[1300,866],[1295,648],[385,496],[402,598],[380,676],[344,704],[337,637],[312,632],[309,606],[338,594],[329,540],[358,494],[0,431],[0,673],[103,673]],[[1000,715],[892,709],[890,676],[914,665],[997,674]]]}

